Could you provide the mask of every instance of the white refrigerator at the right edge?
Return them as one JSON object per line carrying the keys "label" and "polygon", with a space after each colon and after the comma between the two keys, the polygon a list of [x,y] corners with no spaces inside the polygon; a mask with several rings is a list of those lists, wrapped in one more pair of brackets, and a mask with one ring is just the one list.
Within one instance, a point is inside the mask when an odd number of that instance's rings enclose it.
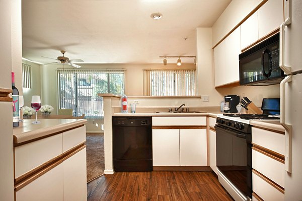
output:
{"label": "white refrigerator at the right edge", "polygon": [[302,200],[302,0],[284,0],[280,26],[280,122],[285,128],[285,200]]}

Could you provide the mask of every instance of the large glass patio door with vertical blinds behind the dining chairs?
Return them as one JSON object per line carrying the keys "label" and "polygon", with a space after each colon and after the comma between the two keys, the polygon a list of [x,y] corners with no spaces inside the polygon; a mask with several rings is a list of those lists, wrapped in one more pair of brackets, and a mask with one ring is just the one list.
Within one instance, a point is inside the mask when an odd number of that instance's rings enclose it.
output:
{"label": "large glass patio door with vertical blinds behind the dining chairs", "polygon": [[98,93],[124,93],[124,70],[57,70],[58,108],[73,109],[75,116],[103,117]]}

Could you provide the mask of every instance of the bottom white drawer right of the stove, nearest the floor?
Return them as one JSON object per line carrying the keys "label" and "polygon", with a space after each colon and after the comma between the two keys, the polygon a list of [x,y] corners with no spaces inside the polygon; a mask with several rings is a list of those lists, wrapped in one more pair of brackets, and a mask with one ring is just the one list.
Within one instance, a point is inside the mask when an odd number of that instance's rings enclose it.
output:
{"label": "bottom white drawer right of the stove, nearest the floor", "polygon": [[263,180],[260,176],[252,173],[253,179],[253,191],[259,195],[263,200],[284,200],[284,194],[269,184],[267,181]]}

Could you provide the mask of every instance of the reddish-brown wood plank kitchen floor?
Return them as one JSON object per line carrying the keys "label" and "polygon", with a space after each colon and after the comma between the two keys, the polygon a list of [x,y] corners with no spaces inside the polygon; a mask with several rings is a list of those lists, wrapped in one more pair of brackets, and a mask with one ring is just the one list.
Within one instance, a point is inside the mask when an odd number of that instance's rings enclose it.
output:
{"label": "reddish-brown wood plank kitchen floor", "polygon": [[214,172],[115,172],[87,184],[95,200],[233,200]]}

